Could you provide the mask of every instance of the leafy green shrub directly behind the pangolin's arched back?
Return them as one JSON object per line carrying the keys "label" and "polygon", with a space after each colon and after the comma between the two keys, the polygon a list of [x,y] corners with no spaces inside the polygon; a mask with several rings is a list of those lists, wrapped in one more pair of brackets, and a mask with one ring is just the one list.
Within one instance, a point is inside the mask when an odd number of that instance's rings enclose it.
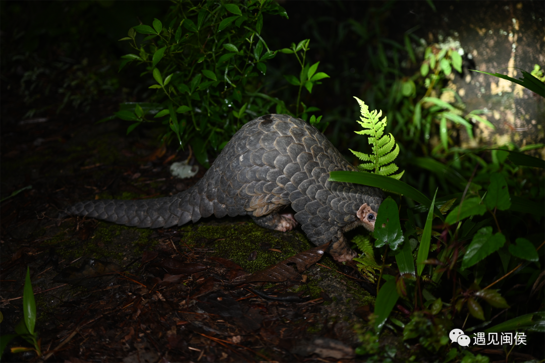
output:
{"label": "leafy green shrub directly behind the pangolin's arched back", "polygon": [[[261,36],[264,14],[288,17],[272,0],[184,0],[172,5],[163,21],[129,29],[120,40],[129,41],[136,52],[122,57],[119,70],[130,63],[143,67],[142,76],[154,80],[149,88],[158,107],[146,110],[136,104],[117,112],[118,118],[133,122],[127,133],[143,122],[162,122],[167,142],[174,138],[180,147],[190,144],[208,167],[207,149],[221,150],[252,118],[276,112],[307,119],[318,111],[300,102],[303,87],[311,93],[320,79],[329,77],[317,72],[319,62],[306,63],[309,39],[281,51],[293,54],[301,66],[299,77],[284,76],[299,88],[295,112],[263,92],[267,61],[277,54]],[[138,33],[147,36],[141,40]],[[311,124],[320,119],[312,115]]]}

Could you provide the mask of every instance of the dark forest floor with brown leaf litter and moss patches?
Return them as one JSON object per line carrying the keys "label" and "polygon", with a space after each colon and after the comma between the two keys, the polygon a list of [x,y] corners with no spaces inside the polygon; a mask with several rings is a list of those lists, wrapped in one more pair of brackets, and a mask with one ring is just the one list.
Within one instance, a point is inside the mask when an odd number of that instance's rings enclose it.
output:
{"label": "dark forest floor with brown leaf litter and moss patches", "polygon": [[[355,354],[376,283],[322,257],[300,229],[265,230],[249,217],[155,230],[59,218],[78,201],[173,195],[205,172],[190,150],[158,147],[158,130],[127,137],[124,122],[95,124],[117,104],[99,108],[4,129],[0,197],[32,187],[0,202],[0,334],[13,333],[22,318],[28,266],[48,361],[377,361]],[[197,175],[173,177],[169,165],[188,159]],[[306,265],[299,271],[282,262],[294,255]],[[288,270],[280,278],[247,278],[279,266]],[[399,333],[388,328],[378,343],[390,361],[443,361]],[[19,345],[28,344],[12,342]],[[33,352],[4,359],[38,360]]]}

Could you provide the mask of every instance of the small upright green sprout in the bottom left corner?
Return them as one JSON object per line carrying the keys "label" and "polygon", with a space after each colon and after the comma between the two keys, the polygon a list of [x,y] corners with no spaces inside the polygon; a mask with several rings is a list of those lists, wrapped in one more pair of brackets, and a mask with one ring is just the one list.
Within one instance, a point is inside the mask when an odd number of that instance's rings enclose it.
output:
{"label": "small upright green sprout in the bottom left corner", "polygon": [[23,287],[23,318],[15,327],[15,333],[0,336],[0,359],[9,342],[17,336],[22,337],[28,343],[32,344],[32,348],[13,347],[12,353],[27,352],[34,350],[38,356],[41,356],[40,340],[38,339],[37,331],[34,331],[36,324],[36,302],[34,301],[34,292],[32,291],[31,273],[27,267],[27,275],[25,278],[25,286]]}

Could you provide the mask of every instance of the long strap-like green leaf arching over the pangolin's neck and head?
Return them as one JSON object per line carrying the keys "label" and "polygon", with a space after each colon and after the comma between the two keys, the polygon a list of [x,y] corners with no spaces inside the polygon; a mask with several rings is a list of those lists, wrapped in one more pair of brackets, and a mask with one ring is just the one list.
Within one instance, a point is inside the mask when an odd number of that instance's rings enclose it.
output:
{"label": "long strap-like green leaf arching over the pangolin's neck and head", "polygon": [[[427,208],[432,204],[432,201],[419,190],[389,176],[364,173],[362,171],[331,171],[329,173],[329,181],[364,184],[370,187],[391,190],[394,193],[405,195],[407,198],[413,199]],[[437,207],[434,207],[434,214],[441,220],[444,220],[443,214],[441,214]]]}

